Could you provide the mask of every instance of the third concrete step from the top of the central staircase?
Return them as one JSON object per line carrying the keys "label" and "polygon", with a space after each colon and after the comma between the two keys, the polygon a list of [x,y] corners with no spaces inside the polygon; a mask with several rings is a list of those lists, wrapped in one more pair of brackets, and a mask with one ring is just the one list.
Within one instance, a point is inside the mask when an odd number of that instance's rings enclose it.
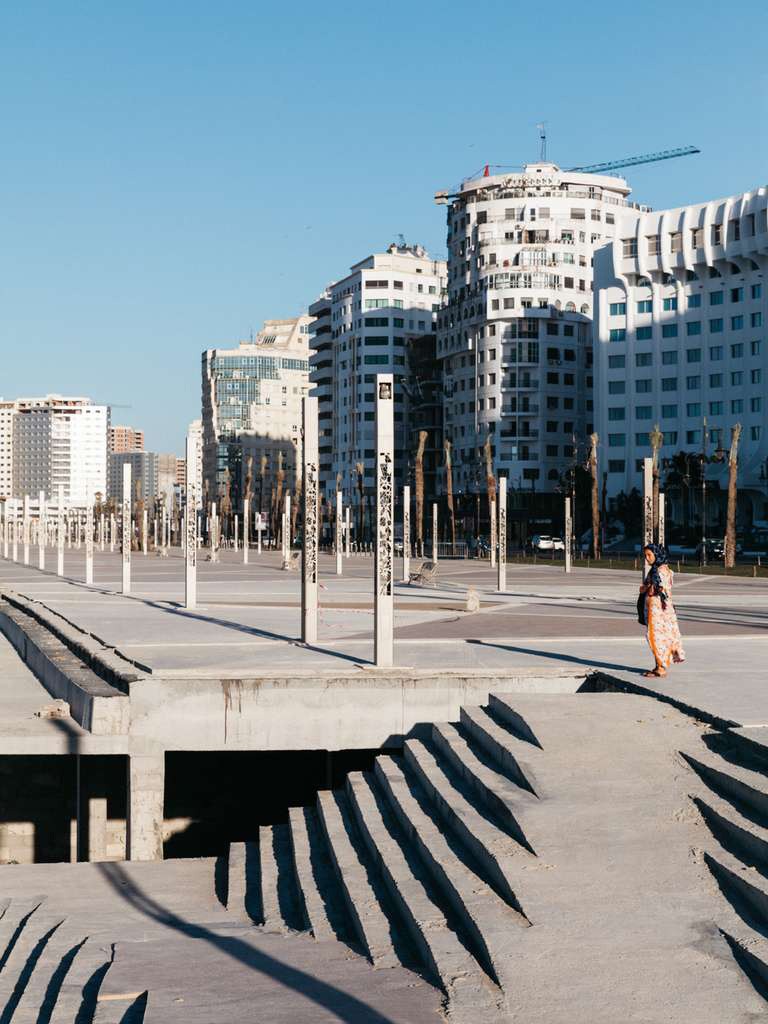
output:
{"label": "third concrete step from the top of the central staircase", "polygon": [[501,826],[534,853],[520,825],[520,815],[525,813],[531,802],[536,803],[536,797],[483,764],[453,723],[433,725],[432,742],[440,757],[471,786]]}

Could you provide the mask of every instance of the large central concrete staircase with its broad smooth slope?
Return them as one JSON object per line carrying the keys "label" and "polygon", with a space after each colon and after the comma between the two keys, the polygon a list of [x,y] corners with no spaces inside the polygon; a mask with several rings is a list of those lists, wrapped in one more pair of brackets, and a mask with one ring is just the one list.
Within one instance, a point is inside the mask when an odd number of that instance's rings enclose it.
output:
{"label": "large central concrete staircase with its broad smooth slope", "polygon": [[[691,869],[703,829],[679,810],[680,730],[699,738],[642,696],[493,694],[232,845],[227,906],[419,972],[456,1022],[660,1021],[673,1002],[678,1019],[753,1019],[765,1002],[744,971],[762,953],[717,933],[719,894]],[[754,800],[764,813],[764,785]],[[768,831],[751,829],[768,865]],[[719,863],[736,870],[726,850]]]}

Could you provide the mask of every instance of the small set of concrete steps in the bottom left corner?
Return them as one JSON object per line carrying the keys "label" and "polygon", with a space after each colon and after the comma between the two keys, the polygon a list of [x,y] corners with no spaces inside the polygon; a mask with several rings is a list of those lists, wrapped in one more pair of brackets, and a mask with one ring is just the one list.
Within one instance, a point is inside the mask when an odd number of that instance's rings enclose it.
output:
{"label": "small set of concrete steps in the bottom left corner", "polygon": [[1,1024],[139,1024],[142,993],[99,1001],[114,959],[114,945],[89,939],[45,896],[0,901]]}

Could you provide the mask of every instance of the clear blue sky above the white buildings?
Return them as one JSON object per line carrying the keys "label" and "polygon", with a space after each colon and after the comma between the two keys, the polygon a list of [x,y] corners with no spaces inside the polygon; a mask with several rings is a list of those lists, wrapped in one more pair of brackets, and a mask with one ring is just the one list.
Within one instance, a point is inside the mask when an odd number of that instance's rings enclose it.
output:
{"label": "clear blue sky above the white buildings", "polygon": [[768,179],[768,8],[25,3],[0,11],[0,394],[115,406],[181,452],[200,353],[299,313],[484,162],[680,205]]}

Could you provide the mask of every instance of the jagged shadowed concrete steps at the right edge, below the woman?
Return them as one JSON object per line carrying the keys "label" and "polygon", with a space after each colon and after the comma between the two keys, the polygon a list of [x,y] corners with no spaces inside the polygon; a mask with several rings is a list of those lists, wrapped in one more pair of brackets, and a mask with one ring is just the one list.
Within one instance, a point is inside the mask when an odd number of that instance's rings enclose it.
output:
{"label": "jagged shadowed concrete steps at the right edge, below the woman", "polygon": [[722,934],[768,998],[768,729],[711,733],[682,753],[706,787],[691,799],[716,841],[705,862],[732,911]]}

